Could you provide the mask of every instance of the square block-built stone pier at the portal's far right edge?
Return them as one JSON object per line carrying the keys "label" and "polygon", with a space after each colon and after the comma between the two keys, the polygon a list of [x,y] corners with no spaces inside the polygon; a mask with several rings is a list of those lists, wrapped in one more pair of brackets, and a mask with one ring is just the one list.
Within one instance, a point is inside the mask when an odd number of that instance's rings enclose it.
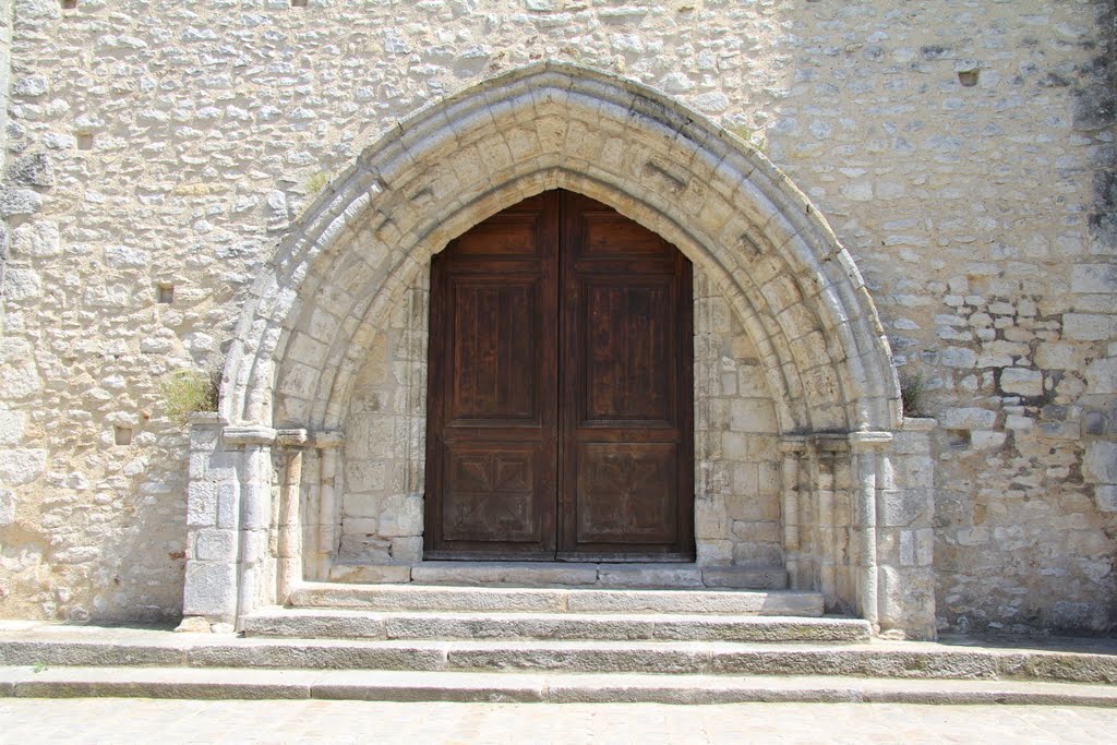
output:
{"label": "square block-built stone pier at the portal's far right edge", "polygon": [[877,561],[884,636],[935,639],[934,419],[905,419],[879,453]]}

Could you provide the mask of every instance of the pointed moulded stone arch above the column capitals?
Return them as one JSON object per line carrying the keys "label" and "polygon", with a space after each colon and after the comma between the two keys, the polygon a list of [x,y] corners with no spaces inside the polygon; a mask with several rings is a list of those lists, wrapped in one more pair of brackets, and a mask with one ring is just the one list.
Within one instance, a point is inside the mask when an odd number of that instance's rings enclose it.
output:
{"label": "pointed moulded stone arch above the column capitals", "polygon": [[270,424],[277,376],[297,360],[316,371],[299,378],[304,423],[336,426],[370,311],[449,239],[554,188],[610,204],[709,273],[761,347],[784,431],[897,426],[872,299],[787,176],[650,88],[555,64],[421,109],[324,190],[252,289],[222,413]]}

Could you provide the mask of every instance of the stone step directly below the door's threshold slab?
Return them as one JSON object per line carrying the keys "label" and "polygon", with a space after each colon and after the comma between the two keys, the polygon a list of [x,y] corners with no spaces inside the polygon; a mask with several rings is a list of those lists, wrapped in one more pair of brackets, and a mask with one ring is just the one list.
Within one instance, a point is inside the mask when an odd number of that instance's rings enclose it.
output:
{"label": "stone step directly below the door's threshold slab", "polygon": [[487,613],[701,613],[821,617],[822,595],[795,590],[598,590],[307,583],[297,608]]}

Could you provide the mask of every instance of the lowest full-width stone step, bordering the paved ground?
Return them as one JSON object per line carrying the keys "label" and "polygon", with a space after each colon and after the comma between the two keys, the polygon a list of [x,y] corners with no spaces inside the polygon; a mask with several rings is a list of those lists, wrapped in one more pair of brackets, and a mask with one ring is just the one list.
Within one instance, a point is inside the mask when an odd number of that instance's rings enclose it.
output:
{"label": "lowest full-width stone step, bordering the paved ground", "polygon": [[0,697],[508,703],[904,703],[1117,707],[1117,687],[840,676],[563,675],[246,668],[0,667]]}

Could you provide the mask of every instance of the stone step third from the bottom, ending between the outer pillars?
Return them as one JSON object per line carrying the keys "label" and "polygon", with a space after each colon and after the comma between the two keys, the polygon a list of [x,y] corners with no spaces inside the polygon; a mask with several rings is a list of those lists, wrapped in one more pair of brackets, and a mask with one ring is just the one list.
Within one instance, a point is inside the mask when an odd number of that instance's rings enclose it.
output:
{"label": "stone step third from the bottom, ending between the outer pillars", "polygon": [[596,639],[670,641],[868,641],[866,621],[843,618],[666,613],[416,613],[277,608],[244,619],[247,637],[302,639]]}

